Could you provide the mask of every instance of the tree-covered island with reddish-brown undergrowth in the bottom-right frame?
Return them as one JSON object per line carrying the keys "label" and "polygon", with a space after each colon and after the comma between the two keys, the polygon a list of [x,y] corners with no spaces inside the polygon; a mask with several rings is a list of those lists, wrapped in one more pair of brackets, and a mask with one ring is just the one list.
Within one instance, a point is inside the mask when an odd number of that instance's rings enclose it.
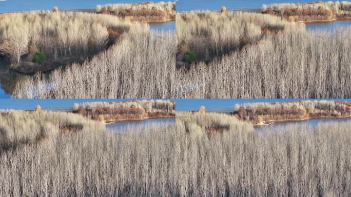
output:
{"label": "tree-covered island with reddish-brown undergrowth in the bottom-right frame", "polygon": [[237,119],[254,125],[309,119],[342,119],[351,117],[351,102],[297,101],[237,105],[232,113]]}

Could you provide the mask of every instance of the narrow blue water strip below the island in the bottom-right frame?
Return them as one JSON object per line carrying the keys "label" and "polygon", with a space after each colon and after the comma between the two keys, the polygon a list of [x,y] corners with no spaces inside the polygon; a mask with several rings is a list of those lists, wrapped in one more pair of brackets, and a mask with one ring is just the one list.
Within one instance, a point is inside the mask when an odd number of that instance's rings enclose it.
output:
{"label": "narrow blue water strip below the island in the bottom-right frame", "polygon": [[287,126],[317,126],[319,123],[351,123],[351,118],[345,119],[311,119],[306,121],[290,121],[290,122],[280,122],[273,125],[265,125],[265,126],[255,126],[255,130],[257,132],[267,132],[274,131],[279,132],[279,129]]}

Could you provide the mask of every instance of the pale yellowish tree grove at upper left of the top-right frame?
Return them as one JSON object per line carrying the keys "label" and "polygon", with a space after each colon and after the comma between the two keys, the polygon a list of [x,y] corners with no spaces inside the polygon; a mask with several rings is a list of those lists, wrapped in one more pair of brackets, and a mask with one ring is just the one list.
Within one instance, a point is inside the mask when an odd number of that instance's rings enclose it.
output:
{"label": "pale yellowish tree grove at upper left of the top-right frame", "polygon": [[304,25],[277,16],[247,12],[190,11],[176,16],[178,53],[196,52],[208,60],[255,44],[267,32],[303,31]]}

